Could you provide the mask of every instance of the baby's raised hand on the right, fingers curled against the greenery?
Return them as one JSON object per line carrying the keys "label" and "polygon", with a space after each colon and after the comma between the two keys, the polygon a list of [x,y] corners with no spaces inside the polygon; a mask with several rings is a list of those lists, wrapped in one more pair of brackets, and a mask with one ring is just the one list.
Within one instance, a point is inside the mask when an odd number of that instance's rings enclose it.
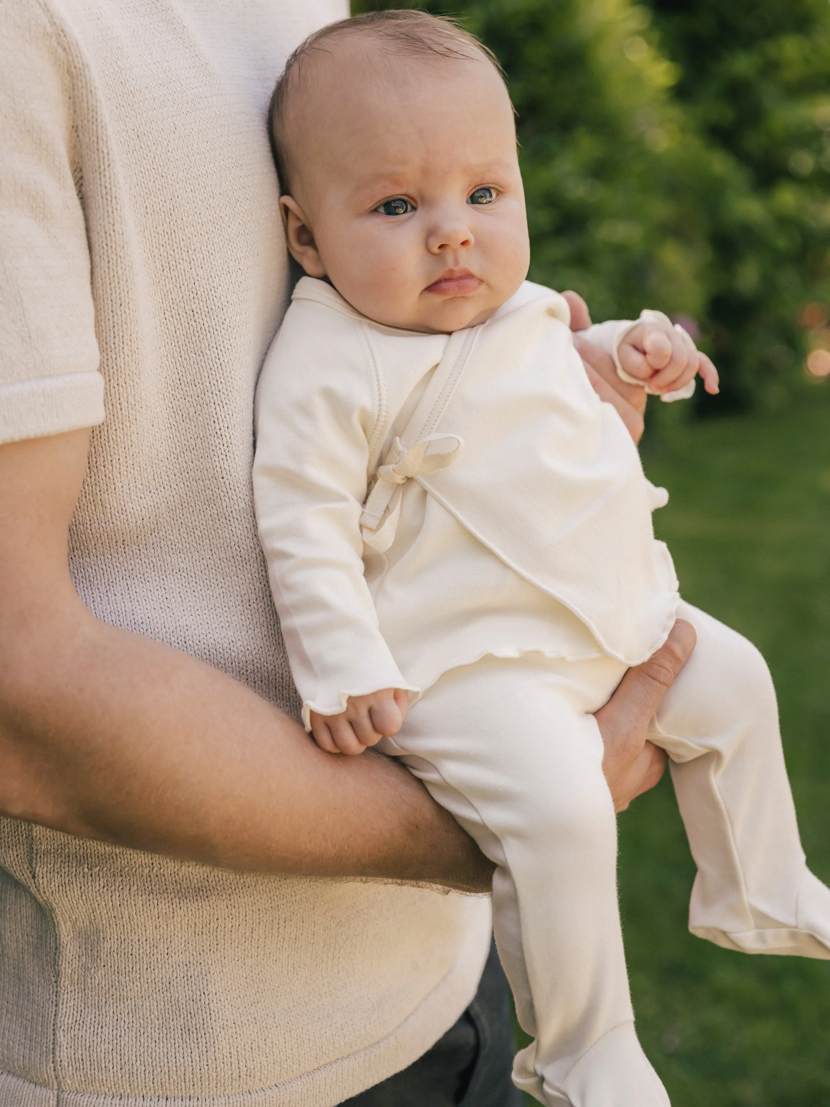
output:
{"label": "baby's raised hand on the right, fingers curled against the greenery", "polygon": [[689,335],[666,320],[641,321],[623,338],[616,352],[624,372],[650,392],[677,392],[699,373],[712,395],[718,389],[717,370]]}

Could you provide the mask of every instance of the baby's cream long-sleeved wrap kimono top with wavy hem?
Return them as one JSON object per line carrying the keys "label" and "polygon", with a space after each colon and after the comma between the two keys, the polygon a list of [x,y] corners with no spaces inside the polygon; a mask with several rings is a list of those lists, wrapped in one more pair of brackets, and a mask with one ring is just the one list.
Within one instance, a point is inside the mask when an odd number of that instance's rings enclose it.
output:
{"label": "baby's cream long-sleeved wrap kimono top with wavy hem", "polygon": [[[526,282],[480,327],[422,334],[298,283],[259,381],[253,490],[307,726],[485,654],[637,664],[665,640],[677,581],[651,511],[666,495],[569,319]],[[587,337],[615,355],[631,325]]]}

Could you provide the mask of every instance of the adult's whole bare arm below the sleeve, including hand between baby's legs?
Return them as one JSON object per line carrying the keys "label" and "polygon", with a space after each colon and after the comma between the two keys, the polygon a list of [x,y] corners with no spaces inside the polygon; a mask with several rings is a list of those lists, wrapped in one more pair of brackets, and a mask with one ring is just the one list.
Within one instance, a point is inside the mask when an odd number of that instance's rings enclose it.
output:
{"label": "adult's whole bare arm below the sleeve, including hand between baby's legs", "polygon": [[[245,685],[83,606],[66,554],[87,443],[0,447],[0,814],[245,871],[487,890],[490,863],[406,769],[323,753]],[[679,634],[598,715],[619,809],[662,772],[645,735]]]}

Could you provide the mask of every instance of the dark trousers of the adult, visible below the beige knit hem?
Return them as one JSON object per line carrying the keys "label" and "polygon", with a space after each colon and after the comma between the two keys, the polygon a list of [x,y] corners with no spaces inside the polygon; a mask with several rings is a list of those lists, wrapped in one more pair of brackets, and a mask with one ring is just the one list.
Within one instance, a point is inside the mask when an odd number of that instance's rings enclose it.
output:
{"label": "dark trousers of the adult, visible below the beige knit hem", "polygon": [[341,1107],[521,1107],[513,1087],[510,991],[495,944],[476,997],[408,1068]]}

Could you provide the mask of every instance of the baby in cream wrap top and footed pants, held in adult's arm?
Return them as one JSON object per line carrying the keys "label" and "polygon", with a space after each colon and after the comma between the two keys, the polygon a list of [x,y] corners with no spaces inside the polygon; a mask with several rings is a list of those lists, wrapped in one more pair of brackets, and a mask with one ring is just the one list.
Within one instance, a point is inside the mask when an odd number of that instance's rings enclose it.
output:
{"label": "baby in cream wrap top and footed pants, held in adult's arm", "polygon": [[[569,306],[525,281],[510,101],[452,23],[386,12],[289,60],[271,123],[308,276],[266,360],[253,485],[303,718],[403,762],[497,866],[496,940],[550,1107],[664,1107],[634,1033],[616,827],[593,717],[679,614],[697,648],[653,721],[697,863],[689,927],[830,958],[767,668],[679,600],[623,422]],[[710,363],[657,313],[588,337],[687,393]],[[371,817],[371,815],[370,815]]]}

